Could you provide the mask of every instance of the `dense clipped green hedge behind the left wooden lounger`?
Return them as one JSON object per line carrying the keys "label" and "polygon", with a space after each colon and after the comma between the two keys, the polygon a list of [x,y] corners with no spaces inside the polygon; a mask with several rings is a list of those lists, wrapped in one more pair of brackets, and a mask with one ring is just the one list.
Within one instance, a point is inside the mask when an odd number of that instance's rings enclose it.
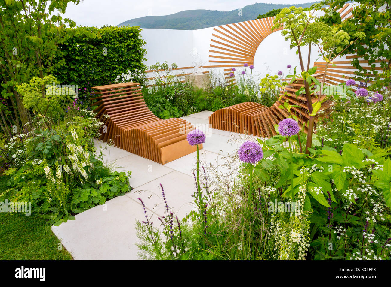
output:
{"label": "dense clipped green hedge behind the left wooden lounger", "polygon": [[57,59],[65,61],[54,69],[54,74],[62,84],[77,84],[84,91],[114,82],[117,75],[129,69],[145,70],[146,42],[140,27],[76,29],[77,33],[59,46]]}

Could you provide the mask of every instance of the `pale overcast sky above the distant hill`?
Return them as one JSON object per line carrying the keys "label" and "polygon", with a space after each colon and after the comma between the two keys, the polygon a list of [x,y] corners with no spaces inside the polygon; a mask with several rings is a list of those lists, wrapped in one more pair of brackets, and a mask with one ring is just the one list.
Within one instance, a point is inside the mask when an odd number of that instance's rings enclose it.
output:
{"label": "pale overcast sky above the distant hill", "polygon": [[[301,4],[316,0],[267,0],[273,4]],[[69,4],[65,16],[77,25],[118,25],[143,16],[161,16],[192,9],[230,11],[255,4],[256,0],[83,0]],[[259,2],[263,2],[258,0]]]}

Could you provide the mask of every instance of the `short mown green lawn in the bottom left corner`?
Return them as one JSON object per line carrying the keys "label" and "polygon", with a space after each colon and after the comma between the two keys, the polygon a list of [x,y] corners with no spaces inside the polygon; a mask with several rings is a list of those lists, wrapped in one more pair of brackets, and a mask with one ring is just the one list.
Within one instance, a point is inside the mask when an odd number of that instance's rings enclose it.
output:
{"label": "short mown green lawn in the bottom left corner", "polygon": [[[0,193],[7,180],[0,176]],[[0,212],[0,260],[72,260],[59,243],[45,219]]]}

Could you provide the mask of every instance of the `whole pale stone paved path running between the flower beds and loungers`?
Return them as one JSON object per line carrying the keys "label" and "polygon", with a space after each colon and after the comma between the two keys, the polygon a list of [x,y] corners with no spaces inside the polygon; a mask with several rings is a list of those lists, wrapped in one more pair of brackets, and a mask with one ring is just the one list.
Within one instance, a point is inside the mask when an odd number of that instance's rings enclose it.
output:
{"label": "whole pale stone paved path running between the flower beds and loungers", "polygon": [[[213,166],[221,163],[222,157],[236,152],[242,138],[239,134],[209,129],[210,111],[203,111],[183,117],[197,128],[206,131],[206,141],[200,150],[200,160]],[[239,139],[233,141],[232,139]],[[167,202],[178,218],[185,217],[192,209],[197,153],[191,153],[165,165],[145,159],[133,153],[96,141],[95,146],[103,148],[104,160],[117,171],[131,171],[130,185],[134,189],[124,196],[117,196],[106,202],[77,214],[76,220],[52,226],[52,231],[61,240],[75,260],[136,260],[138,242],[135,219],[142,221],[144,213],[137,198],[141,198],[152,221],[159,226],[156,214],[163,214],[159,184],[163,185]],[[156,194],[154,196],[153,194]],[[152,196],[151,196],[152,195]],[[151,197],[150,197],[151,196]],[[150,198],[149,198],[150,197]],[[160,203],[158,206],[156,204]],[[156,207],[155,207],[156,206]]]}

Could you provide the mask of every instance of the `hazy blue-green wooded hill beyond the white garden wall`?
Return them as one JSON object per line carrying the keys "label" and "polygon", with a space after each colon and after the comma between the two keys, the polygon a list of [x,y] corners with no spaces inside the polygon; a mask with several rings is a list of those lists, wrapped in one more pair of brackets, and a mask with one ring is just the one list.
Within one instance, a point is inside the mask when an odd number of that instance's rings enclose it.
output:
{"label": "hazy blue-green wooded hill beyond the white garden wall", "polygon": [[[317,2],[295,4],[296,7],[307,8]],[[232,11],[217,10],[186,10],[165,16],[144,16],[127,20],[117,26],[141,26],[141,28],[154,29],[178,29],[196,30],[218,25],[236,23],[256,19],[259,14],[265,14],[273,9],[291,7],[292,4],[266,4],[255,3],[242,8],[242,15],[239,9]]]}

